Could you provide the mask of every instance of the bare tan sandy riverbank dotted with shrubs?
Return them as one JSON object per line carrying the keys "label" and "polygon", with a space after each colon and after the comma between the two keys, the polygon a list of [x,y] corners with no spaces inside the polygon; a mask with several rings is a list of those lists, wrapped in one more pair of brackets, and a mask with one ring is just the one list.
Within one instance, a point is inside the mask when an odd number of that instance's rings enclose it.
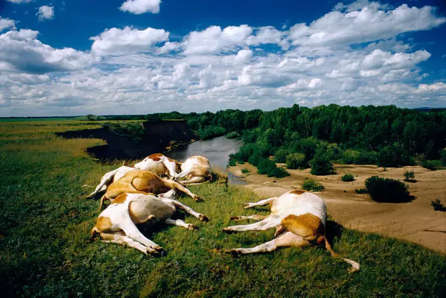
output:
{"label": "bare tan sandy riverbank dotted with shrubs", "polygon": [[[250,170],[242,174],[242,169]],[[309,170],[288,170],[291,176],[283,179],[268,178],[253,174],[257,169],[248,163],[228,168],[241,176],[248,187],[262,198],[279,196],[284,192],[302,189],[305,177],[312,177],[324,185],[318,192],[327,204],[328,214],[344,227],[379,233],[422,244],[424,247],[446,254],[446,212],[434,211],[430,205],[439,198],[446,205],[446,170],[431,171],[420,166],[405,168],[377,168],[376,165],[334,165],[338,174],[314,176]],[[368,194],[356,194],[355,189],[364,188],[370,176],[382,176],[403,180],[406,170],[414,170],[416,183],[407,183],[415,199],[410,203],[377,203]],[[341,176],[350,173],[353,182],[343,182]]]}

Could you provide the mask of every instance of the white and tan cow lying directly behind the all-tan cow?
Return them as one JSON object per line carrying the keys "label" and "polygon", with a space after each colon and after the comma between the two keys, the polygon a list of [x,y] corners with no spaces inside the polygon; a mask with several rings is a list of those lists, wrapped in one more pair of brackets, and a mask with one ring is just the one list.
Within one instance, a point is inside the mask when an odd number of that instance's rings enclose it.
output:
{"label": "white and tan cow lying directly behind the all-tan cow", "polygon": [[180,170],[180,163],[174,161],[173,159],[165,157],[161,153],[154,153],[149,155],[148,157],[145,157],[143,161],[135,163],[133,167],[129,167],[123,164],[123,166],[121,166],[120,168],[104,174],[104,176],[102,176],[101,178],[101,182],[97,185],[95,191],[89,194],[89,198],[92,198],[99,192],[105,192],[110,183],[117,181],[132,170],[148,170],[154,172],[157,175],[166,174],[173,179],[176,172],[179,172]]}

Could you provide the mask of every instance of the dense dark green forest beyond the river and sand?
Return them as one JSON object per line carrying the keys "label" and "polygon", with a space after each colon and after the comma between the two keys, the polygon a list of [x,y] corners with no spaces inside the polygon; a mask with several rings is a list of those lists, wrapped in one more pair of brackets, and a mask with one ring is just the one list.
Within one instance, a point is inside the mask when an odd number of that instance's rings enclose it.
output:
{"label": "dense dark green forest beyond the river and sand", "polygon": [[[113,118],[120,117],[126,116]],[[287,168],[311,166],[314,174],[331,174],[332,162],[397,167],[421,161],[431,169],[446,165],[445,110],[336,104],[307,108],[295,104],[268,112],[226,110],[133,117],[186,119],[202,139],[239,133],[244,146],[231,156],[230,163],[248,161],[268,176],[287,175],[276,163],[287,163]]]}

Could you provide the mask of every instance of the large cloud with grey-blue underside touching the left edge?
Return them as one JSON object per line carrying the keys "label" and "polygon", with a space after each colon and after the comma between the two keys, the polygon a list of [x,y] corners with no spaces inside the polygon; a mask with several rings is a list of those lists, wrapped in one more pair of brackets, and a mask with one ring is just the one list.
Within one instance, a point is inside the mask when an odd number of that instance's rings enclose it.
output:
{"label": "large cloud with grey-blue underside touching the left edge", "polygon": [[0,71],[46,73],[87,67],[95,58],[65,47],[54,49],[37,39],[33,30],[9,31],[0,35]]}

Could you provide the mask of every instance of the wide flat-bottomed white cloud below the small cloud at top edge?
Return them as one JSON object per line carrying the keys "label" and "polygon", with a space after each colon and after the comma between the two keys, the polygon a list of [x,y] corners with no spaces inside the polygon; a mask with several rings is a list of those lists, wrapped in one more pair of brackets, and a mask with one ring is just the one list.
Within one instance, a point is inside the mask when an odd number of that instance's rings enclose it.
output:
{"label": "wide flat-bottomed white cloud below the small cloud at top edge", "polygon": [[90,38],[94,41],[91,51],[97,55],[126,54],[132,51],[151,51],[152,46],[167,41],[169,32],[148,27],[137,30],[132,27],[124,29],[107,29],[98,36]]}

